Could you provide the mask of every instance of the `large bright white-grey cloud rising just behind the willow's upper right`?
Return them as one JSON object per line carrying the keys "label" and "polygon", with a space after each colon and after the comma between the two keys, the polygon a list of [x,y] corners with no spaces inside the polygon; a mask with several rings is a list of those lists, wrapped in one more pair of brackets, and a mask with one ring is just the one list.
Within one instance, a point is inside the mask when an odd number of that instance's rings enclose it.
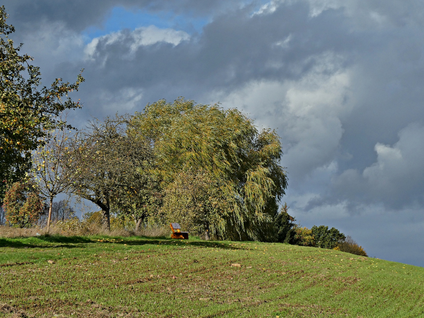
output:
{"label": "large bright white-grey cloud rising just behind the willow's upper right", "polygon": [[319,59],[321,63],[297,81],[251,81],[227,95],[220,93],[226,107],[249,112],[259,126],[278,127],[285,153],[282,164],[297,181],[315,169],[329,169],[343,134],[340,117],[351,111],[349,70],[337,70],[338,57]]}

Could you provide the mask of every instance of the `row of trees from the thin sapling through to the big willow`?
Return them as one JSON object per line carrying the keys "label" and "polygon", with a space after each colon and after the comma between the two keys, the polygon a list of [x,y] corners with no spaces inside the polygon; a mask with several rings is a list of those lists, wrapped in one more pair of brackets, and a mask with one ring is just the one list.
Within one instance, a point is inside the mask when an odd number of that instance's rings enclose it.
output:
{"label": "row of trees from the thin sapling through to the big willow", "polygon": [[287,187],[279,137],[237,109],[159,100],[60,136],[33,154],[34,184],[51,199],[56,188],[96,204],[106,230],[113,214],[217,239],[276,240]]}

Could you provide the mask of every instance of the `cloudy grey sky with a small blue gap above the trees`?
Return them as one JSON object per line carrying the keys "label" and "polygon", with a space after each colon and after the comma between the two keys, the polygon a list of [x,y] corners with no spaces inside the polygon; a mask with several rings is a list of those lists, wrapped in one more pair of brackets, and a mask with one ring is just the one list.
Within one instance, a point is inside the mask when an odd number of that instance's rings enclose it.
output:
{"label": "cloudy grey sky with a small blue gap above the trees", "polygon": [[179,96],[275,128],[301,226],[424,266],[424,2],[3,0],[43,84],[91,116]]}

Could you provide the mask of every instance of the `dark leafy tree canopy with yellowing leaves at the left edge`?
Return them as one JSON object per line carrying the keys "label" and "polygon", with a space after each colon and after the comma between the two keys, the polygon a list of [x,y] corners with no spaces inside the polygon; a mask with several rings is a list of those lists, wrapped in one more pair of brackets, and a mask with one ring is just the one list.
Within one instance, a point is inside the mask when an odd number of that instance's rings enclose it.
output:
{"label": "dark leafy tree canopy with yellowing leaves at the left edge", "polygon": [[[68,93],[78,90],[84,78],[74,84],[61,78],[50,88],[42,86],[39,67],[33,66],[28,54],[20,55],[22,43],[14,46],[8,36],[15,31],[6,23],[8,15],[0,7],[0,201],[11,183],[30,167],[31,151],[43,143],[47,131],[66,125],[57,116],[65,109],[81,107]],[[70,126],[68,126],[70,127]]]}

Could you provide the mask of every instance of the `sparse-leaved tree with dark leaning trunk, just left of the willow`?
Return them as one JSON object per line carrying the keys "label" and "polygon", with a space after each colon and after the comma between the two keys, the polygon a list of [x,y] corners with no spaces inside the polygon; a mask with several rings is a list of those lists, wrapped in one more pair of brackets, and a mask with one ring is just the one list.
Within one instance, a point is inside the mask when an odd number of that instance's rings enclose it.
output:
{"label": "sparse-leaved tree with dark leaning trunk, just left of the willow", "polygon": [[128,116],[93,121],[79,131],[70,151],[70,168],[81,171],[71,191],[102,209],[106,230],[111,209],[140,217],[155,192],[151,146],[126,134],[128,121]]}

